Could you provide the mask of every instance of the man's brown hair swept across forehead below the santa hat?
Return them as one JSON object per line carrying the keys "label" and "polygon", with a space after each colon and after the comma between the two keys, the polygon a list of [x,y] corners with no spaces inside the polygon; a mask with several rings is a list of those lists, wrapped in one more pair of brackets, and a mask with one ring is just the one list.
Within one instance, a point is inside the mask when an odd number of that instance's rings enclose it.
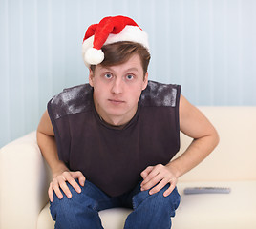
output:
{"label": "man's brown hair swept across forehead below the santa hat", "polygon": [[[139,54],[143,73],[147,73],[148,64],[150,61],[150,53],[142,45],[130,41],[119,41],[113,44],[105,45],[101,48],[104,52],[104,60],[100,65],[114,66],[125,63],[133,54]],[[91,70],[94,72],[96,65],[91,65]]]}

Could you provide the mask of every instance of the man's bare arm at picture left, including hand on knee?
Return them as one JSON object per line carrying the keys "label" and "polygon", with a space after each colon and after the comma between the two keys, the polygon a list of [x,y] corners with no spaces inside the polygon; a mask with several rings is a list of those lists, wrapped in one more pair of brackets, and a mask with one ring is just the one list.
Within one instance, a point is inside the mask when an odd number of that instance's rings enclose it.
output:
{"label": "man's bare arm at picture left, including hand on knee", "polygon": [[47,111],[43,114],[37,128],[37,143],[53,173],[53,181],[50,183],[48,190],[50,200],[53,202],[53,191],[58,198],[63,198],[60,189],[63,190],[68,198],[72,198],[66,181],[75,188],[77,193],[80,193],[81,189],[75,182],[75,178],[78,178],[79,184],[83,186],[85,177],[79,171],[70,172],[66,165],[59,160],[53,126]]}

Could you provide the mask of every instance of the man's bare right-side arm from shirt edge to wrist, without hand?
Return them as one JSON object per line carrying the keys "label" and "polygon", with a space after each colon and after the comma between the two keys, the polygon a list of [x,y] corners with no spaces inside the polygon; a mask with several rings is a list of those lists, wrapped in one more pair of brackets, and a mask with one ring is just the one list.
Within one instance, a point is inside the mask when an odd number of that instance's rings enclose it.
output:
{"label": "man's bare right-side arm from shirt edge to wrist, without hand", "polygon": [[180,129],[194,140],[181,156],[169,163],[176,177],[181,177],[203,161],[220,140],[209,120],[183,96],[181,96]]}

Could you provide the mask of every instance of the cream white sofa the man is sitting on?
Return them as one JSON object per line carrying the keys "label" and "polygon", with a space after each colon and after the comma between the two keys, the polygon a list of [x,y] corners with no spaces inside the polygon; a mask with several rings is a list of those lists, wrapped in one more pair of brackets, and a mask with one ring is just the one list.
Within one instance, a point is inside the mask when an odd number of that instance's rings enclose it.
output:
{"label": "cream white sofa the man is sitting on", "polygon": [[[256,107],[200,107],[219,132],[216,150],[180,178],[174,229],[256,228]],[[181,152],[191,139],[181,135]],[[180,153],[179,153],[180,154]],[[0,228],[53,229],[47,189],[51,173],[35,132],[0,150]],[[184,187],[224,186],[230,194],[184,195]],[[127,209],[100,212],[105,229],[119,229]]]}

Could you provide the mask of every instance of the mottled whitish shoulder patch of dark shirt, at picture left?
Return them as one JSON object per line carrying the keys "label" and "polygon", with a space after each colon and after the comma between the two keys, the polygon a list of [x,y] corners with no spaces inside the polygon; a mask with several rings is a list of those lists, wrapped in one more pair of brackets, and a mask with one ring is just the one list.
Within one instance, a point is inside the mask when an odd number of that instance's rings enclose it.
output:
{"label": "mottled whitish shoulder patch of dark shirt, at picture left", "polygon": [[86,112],[92,108],[92,92],[89,84],[64,89],[60,94],[53,96],[48,107],[51,107],[55,118]]}

